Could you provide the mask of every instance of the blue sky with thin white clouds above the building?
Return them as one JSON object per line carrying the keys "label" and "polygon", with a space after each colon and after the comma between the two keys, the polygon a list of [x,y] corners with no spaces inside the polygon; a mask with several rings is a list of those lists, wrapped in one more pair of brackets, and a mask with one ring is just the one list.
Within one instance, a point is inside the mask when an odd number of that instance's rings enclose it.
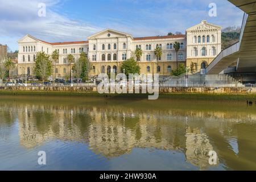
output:
{"label": "blue sky with thin white clouds above the building", "polygon": [[[38,4],[46,3],[46,17]],[[217,17],[208,15],[216,3]],[[0,0],[0,43],[12,51],[30,34],[48,42],[86,40],[105,28],[134,37],[166,35],[185,30],[205,19],[223,28],[241,26],[243,13],[226,0]]]}

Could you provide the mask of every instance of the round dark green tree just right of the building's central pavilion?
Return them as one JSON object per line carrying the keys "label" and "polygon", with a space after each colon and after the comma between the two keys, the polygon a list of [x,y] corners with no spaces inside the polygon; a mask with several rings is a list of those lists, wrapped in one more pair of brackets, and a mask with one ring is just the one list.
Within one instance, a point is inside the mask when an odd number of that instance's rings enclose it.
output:
{"label": "round dark green tree just right of the building's central pavilion", "polygon": [[140,73],[141,72],[141,68],[138,65],[138,62],[135,61],[135,59],[133,57],[131,57],[130,59],[127,59],[125,61],[123,61],[123,64],[121,66],[121,71],[123,73],[123,69],[125,69],[125,75],[129,76],[129,73]]}

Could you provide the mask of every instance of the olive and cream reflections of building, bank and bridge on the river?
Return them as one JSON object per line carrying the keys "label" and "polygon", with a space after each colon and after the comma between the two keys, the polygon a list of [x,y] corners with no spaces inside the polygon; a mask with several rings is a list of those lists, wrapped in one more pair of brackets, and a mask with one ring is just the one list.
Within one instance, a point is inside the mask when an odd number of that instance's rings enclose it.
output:
{"label": "olive and cream reflections of building, bank and bridge on the river", "polygon": [[18,122],[20,145],[48,140],[87,144],[113,159],[134,148],[183,152],[208,169],[208,153],[226,169],[256,169],[256,111],[244,104],[192,101],[34,100],[0,102],[1,138]]}

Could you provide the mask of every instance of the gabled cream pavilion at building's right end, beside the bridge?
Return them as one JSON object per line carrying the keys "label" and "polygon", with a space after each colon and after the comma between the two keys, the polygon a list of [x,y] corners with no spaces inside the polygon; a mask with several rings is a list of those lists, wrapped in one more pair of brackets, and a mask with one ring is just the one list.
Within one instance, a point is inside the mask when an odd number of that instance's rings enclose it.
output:
{"label": "gabled cream pavilion at building's right end, beside the bridge", "polygon": [[187,67],[192,73],[205,69],[221,52],[221,27],[207,23],[188,28],[187,34]]}

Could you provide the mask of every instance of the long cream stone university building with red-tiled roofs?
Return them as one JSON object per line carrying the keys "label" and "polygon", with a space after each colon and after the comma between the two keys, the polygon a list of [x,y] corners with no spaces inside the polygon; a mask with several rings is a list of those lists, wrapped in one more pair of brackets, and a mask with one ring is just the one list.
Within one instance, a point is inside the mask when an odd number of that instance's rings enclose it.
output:
{"label": "long cream stone university building with red-tiled roofs", "polygon": [[[57,77],[69,75],[69,63],[67,56],[72,54],[72,65],[79,59],[80,53],[88,55],[91,69],[90,76],[110,71],[121,72],[123,61],[134,57],[136,48],[141,48],[143,53],[138,64],[141,73],[156,73],[170,75],[172,69],[176,69],[176,56],[179,63],[199,72],[221,52],[221,27],[207,23],[205,20],[200,24],[187,29],[186,35],[150,36],[134,38],[125,32],[107,29],[89,36],[86,41],[49,43],[26,35],[18,41],[18,75],[27,73],[34,75],[34,60],[36,53],[44,51],[51,55],[53,51],[59,52],[59,61],[56,64]],[[174,43],[180,43],[180,50],[176,53]],[[161,47],[163,55],[157,61],[154,51]],[[158,64],[157,64],[158,62]]]}

